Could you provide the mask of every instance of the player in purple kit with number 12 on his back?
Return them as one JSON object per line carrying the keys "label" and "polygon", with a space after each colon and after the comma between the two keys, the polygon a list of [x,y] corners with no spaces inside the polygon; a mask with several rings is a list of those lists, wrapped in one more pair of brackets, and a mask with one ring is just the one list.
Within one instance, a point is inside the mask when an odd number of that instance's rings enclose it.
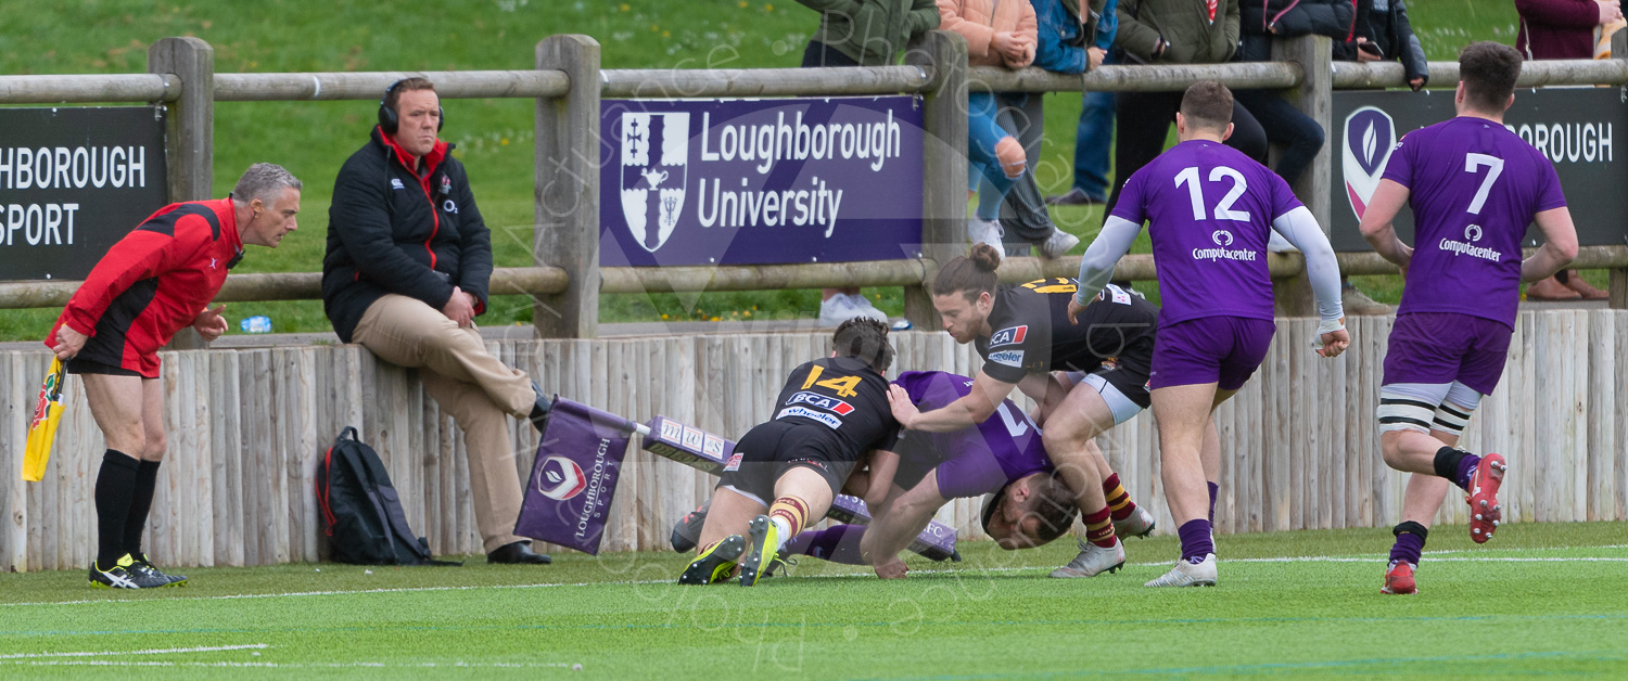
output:
{"label": "player in purple kit with number 12 on his back", "polygon": [[[1211,413],[1244,387],[1276,332],[1267,271],[1273,229],[1306,254],[1322,317],[1317,353],[1333,358],[1350,343],[1328,237],[1283,179],[1221,143],[1232,133],[1231,119],[1232,93],[1221,83],[1187,88],[1175,114],[1180,143],[1125,182],[1079,263],[1079,294],[1070,306],[1086,309],[1148,221],[1164,299],[1149,385],[1164,494],[1182,538],[1182,559],[1148,587],[1216,583],[1200,452],[1214,427]],[[1219,445],[1214,450],[1218,468]]]}

